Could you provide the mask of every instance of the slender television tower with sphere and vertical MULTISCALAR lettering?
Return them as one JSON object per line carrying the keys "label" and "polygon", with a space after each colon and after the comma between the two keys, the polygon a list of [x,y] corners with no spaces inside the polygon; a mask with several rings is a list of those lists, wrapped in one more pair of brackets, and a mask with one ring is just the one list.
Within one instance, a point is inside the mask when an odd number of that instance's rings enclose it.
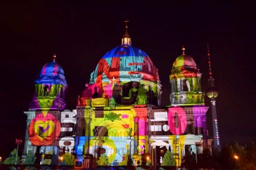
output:
{"label": "slender television tower with sphere and vertical MULTISCALAR lettering", "polygon": [[208,46],[208,59],[209,59],[209,78],[208,78],[208,90],[207,96],[211,99],[212,105],[212,125],[213,125],[213,144],[214,147],[221,151],[221,143],[219,141],[219,129],[218,129],[218,120],[217,120],[217,112],[216,112],[216,97],[218,96],[219,92],[217,91],[216,87],[214,86],[214,79],[212,77],[212,69],[211,69],[211,61],[210,61],[210,52],[209,52],[209,45]]}

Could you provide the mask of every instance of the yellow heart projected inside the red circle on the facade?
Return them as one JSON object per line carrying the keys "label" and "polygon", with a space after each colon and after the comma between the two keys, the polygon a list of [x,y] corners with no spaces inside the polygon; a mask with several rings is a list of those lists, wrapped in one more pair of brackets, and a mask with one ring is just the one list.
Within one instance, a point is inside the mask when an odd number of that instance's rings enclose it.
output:
{"label": "yellow heart projected inside the red circle on the facade", "polygon": [[[55,125],[54,122],[51,120],[42,121],[38,120],[34,124],[34,131],[37,133],[38,136],[45,138],[52,134],[54,131]],[[41,133],[41,134],[40,134]],[[41,140],[43,140],[40,138]]]}

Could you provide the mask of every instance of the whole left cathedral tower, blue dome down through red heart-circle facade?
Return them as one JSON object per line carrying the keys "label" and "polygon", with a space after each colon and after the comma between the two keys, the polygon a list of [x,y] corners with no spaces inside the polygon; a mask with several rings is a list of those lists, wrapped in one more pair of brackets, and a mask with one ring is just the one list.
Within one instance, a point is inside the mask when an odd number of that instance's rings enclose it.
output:
{"label": "whole left cathedral tower, blue dome down through red heart-circle facade", "polygon": [[[59,154],[61,135],[61,111],[66,106],[65,92],[68,87],[64,71],[53,61],[43,66],[40,76],[35,80],[35,93],[29,104],[23,157],[31,151],[37,156],[37,163],[42,154]],[[64,115],[65,117],[65,115]],[[63,142],[62,142],[63,145]]]}

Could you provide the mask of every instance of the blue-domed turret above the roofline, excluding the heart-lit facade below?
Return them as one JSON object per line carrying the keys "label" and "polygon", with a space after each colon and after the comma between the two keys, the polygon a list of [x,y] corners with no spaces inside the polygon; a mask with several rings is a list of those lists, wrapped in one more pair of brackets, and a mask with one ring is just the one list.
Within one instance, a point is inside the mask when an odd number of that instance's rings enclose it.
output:
{"label": "blue-domed turret above the roofline, excluding the heart-lit facade below", "polygon": [[65,92],[68,87],[62,67],[53,61],[43,66],[39,79],[35,80],[35,95],[29,110],[63,110],[66,106]]}

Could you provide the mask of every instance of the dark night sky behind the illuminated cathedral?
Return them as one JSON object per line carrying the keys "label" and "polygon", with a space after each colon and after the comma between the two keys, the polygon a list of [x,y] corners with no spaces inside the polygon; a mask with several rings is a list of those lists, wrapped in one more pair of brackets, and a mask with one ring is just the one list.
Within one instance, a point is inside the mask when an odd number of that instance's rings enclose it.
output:
{"label": "dark night sky behind the illuminated cathedral", "polygon": [[[120,45],[126,19],[132,46],[145,51],[159,68],[162,105],[169,105],[169,74],[174,60],[182,54],[182,46],[199,65],[202,91],[206,92],[209,42],[219,90],[216,107],[221,145],[256,141],[256,28],[252,2],[2,1],[0,6],[0,156],[15,148],[15,138],[24,140],[23,112],[28,111],[33,96],[33,81],[53,60],[53,54],[69,86],[66,108],[75,109],[77,96],[100,58]],[[210,106],[207,97],[205,105]],[[210,111],[207,121],[212,135]]]}

